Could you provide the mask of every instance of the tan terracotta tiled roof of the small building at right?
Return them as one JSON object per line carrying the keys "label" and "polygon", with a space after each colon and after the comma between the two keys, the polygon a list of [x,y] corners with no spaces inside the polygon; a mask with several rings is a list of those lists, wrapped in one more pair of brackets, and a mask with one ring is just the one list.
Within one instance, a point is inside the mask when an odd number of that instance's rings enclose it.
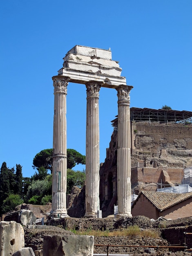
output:
{"label": "tan terracotta tiled roof of the small building at right", "polygon": [[179,194],[179,193],[166,193],[155,191],[141,191],[141,193],[159,210],[164,211],[178,204],[188,198],[192,197],[192,192]]}

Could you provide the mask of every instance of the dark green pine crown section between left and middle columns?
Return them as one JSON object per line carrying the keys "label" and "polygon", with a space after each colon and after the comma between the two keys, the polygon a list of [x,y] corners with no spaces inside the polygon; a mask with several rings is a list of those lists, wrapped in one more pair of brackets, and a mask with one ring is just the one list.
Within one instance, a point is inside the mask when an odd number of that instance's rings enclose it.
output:
{"label": "dark green pine crown section between left and middle columns", "polygon": [[76,164],[85,164],[85,155],[81,155],[75,149],[67,149],[67,168],[71,169]]}

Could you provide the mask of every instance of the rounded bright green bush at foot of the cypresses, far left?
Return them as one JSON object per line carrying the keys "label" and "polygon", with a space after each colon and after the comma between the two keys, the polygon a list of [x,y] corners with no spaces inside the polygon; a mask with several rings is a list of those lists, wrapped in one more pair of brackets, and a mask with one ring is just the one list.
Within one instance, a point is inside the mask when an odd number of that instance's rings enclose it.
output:
{"label": "rounded bright green bush at foot of the cypresses, far left", "polygon": [[23,204],[23,200],[20,195],[10,194],[2,203],[2,212],[6,213],[12,211],[19,204]]}

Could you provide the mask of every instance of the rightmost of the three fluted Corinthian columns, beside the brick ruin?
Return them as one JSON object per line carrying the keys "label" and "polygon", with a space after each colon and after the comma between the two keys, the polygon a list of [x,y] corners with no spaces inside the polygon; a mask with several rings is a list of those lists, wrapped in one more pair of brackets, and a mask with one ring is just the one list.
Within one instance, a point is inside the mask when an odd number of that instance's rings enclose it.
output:
{"label": "rightmost of the three fluted Corinthian columns, beside the brick ruin", "polygon": [[117,196],[118,214],[131,215],[131,132],[130,97],[131,86],[117,88],[118,96],[118,148],[117,148]]}

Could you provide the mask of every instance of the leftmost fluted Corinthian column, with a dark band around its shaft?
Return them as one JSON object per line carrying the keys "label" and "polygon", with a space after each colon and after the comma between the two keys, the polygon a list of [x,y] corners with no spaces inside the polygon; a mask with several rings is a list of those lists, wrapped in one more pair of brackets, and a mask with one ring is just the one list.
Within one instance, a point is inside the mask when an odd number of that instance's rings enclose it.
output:
{"label": "leftmost fluted Corinthian column, with a dark band around its shaft", "polygon": [[55,218],[69,217],[66,210],[67,190],[67,122],[66,95],[68,78],[54,76],[54,136],[52,211]]}

